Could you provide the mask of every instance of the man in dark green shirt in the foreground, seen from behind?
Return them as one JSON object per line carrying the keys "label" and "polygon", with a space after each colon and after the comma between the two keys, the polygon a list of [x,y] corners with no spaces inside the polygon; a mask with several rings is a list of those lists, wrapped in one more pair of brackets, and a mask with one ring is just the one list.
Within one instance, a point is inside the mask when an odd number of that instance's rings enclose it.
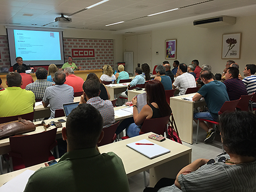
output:
{"label": "man in dark green shirt in the foreground, seen from behind", "polygon": [[28,179],[24,192],[129,192],[122,159],[115,153],[100,153],[96,147],[104,136],[98,110],[80,104],[71,111],[62,138],[68,152],[55,165],[40,168]]}

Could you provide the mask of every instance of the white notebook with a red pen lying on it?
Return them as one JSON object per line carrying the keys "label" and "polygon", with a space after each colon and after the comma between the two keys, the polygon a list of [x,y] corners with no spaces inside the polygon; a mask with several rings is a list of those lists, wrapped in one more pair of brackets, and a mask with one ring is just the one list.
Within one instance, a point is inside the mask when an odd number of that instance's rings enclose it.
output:
{"label": "white notebook with a red pen lying on it", "polygon": [[[136,145],[135,143],[152,143],[154,145]],[[164,155],[166,153],[171,152],[169,149],[161,147],[158,144],[155,144],[151,141],[148,141],[147,139],[142,139],[140,141],[129,143],[126,146],[128,146],[128,147],[134,149],[135,151],[145,155],[149,159],[153,159],[153,158],[156,158],[156,157],[159,157],[161,155]]]}

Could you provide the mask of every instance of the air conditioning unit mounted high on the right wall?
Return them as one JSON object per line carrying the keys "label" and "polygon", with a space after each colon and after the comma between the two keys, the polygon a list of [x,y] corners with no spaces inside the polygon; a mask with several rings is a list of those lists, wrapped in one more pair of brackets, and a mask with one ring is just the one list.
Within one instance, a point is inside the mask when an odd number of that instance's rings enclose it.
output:
{"label": "air conditioning unit mounted high on the right wall", "polygon": [[234,25],[236,22],[236,17],[230,16],[219,16],[219,17],[210,17],[201,20],[193,21],[194,26],[210,28],[210,27],[218,27],[225,25]]}

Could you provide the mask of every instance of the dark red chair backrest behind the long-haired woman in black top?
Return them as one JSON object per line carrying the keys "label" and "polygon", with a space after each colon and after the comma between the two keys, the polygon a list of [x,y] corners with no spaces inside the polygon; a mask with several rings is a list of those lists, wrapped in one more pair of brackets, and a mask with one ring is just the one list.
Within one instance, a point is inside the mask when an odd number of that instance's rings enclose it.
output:
{"label": "dark red chair backrest behind the long-haired woman in black top", "polygon": [[155,119],[145,119],[141,129],[140,135],[148,132],[153,132],[158,135],[164,135],[166,131],[166,125],[168,124],[170,115],[166,117],[160,117]]}

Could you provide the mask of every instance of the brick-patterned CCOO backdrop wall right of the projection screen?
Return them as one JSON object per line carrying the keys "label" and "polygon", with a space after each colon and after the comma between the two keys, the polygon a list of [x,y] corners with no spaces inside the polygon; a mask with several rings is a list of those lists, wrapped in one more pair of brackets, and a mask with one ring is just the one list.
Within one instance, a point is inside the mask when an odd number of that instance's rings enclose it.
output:
{"label": "brick-patterned CCOO backdrop wall right of the projection screen", "polygon": [[82,70],[101,69],[104,65],[114,67],[114,48],[112,39],[63,38],[65,62],[73,57],[76,66]]}

